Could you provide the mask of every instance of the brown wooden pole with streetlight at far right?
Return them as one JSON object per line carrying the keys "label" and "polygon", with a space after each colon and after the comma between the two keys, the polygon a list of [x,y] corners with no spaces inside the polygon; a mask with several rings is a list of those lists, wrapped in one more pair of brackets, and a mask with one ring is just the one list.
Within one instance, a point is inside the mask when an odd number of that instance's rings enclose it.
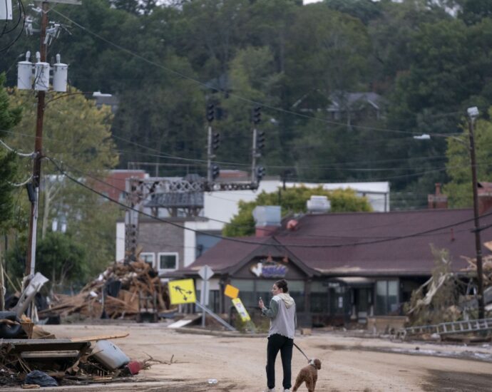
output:
{"label": "brown wooden pole with streetlight at far right", "polygon": [[471,160],[471,185],[473,188],[473,218],[475,222],[475,249],[476,249],[476,273],[478,286],[478,319],[485,318],[485,301],[483,299],[483,266],[482,243],[480,236],[480,218],[478,215],[478,183],[476,178],[475,140],[473,137],[473,124],[478,118],[478,108],[468,108],[468,133],[470,135],[470,160]]}

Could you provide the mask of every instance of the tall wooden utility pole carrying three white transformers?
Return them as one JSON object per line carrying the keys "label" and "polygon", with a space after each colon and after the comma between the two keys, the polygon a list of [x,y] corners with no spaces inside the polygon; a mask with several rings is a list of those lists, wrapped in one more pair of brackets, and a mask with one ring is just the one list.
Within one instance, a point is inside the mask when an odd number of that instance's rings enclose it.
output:
{"label": "tall wooden utility pole carrying three white transformers", "polygon": [[[48,3],[43,1],[41,6],[41,62],[46,62],[46,26],[48,26]],[[34,274],[36,265],[36,229],[38,226],[39,185],[41,183],[41,159],[43,158],[43,118],[45,91],[38,91],[38,110],[36,117],[36,142],[34,144],[33,186],[35,200],[31,202],[31,214],[29,215],[29,237],[27,242],[26,271],[25,276]]]}

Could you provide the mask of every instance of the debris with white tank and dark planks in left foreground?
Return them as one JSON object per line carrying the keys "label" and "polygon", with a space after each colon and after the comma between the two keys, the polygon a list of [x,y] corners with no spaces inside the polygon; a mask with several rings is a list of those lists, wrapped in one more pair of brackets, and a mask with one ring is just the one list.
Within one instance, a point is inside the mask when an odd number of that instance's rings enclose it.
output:
{"label": "debris with white tank and dark planks in left foreground", "polygon": [[[153,363],[149,357],[131,361],[106,339],[128,334],[77,339],[9,339],[0,341],[0,386],[80,385],[129,381]],[[91,346],[91,342],[96,342]],[[171,359],[172,363],[173,359]]]}

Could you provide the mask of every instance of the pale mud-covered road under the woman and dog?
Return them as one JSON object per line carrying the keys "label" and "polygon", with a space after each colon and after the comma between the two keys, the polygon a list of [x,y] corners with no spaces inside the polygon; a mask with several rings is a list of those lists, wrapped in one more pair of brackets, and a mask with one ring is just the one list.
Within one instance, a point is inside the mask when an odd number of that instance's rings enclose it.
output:
{"label": "pale mud-covered road under the woman and dog", "polygon": [[[158,363],[130,383],[53,388],[56,391],[262,391],[266,337],[191,334],[166,324],[45,326],[58,338],[129,332],[115,339],[131,359]],[[314,331],[297,336],[309,357],[322,360],[316,391],[492,391],[492,346],[362,339]],[[294,348],[292,381],[306,364]],[[277,359],[277,391],[282,367]],[[216,379],[217,383],[209,383]],[[51,390],[52,388],[43,388]],[[20,390],[20,389],[18,389]],[[302,386],[299,391],[307,391]]]}

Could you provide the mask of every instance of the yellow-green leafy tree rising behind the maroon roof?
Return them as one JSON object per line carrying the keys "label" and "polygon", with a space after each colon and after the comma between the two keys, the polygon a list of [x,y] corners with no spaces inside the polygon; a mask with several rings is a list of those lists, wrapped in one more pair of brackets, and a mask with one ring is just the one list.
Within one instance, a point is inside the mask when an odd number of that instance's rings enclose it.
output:
{"label": "yellow-green leafy tree rising behind the maroon roof", "polygon": [[258,205],[280,205],[282,216],[289,213],[306,212],[306,202],[312,195],[327,196],[332,212],[371,211],[366,197],[358,197],[354,190],[324,190],[317,188],[292,187],[278,192],[262,192],[253,202],[240,202],[239,212],[225,225],[222,234],[227,237],[240,237],[255,232],[252,211]]}

